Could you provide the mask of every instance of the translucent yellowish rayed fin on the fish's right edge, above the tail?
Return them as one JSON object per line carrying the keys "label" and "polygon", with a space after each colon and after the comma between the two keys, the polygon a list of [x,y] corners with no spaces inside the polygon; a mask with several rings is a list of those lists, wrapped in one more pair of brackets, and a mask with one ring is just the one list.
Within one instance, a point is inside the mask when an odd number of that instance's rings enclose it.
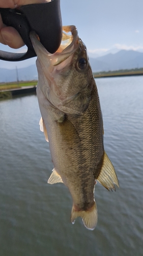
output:
{"label": "translucent yellowish rayed fin on the fish's right edge, above the tail", "polygon": [[108,190],[112,188],[116,190],[114,184],[119,187],[119,181],[115,172],[115,168],[113,167],[105,151],[101,172],[97,180]]}

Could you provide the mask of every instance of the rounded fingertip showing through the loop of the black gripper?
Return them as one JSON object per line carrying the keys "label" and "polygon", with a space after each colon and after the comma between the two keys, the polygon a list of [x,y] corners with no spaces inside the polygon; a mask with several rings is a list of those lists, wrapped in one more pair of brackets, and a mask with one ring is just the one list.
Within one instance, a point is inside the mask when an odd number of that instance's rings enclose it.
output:
{"label": "rounded fingertip showing through the loop of the black gripper", "polygon": [[13,27],[2,28],[1,36],[2,36],[2,40],[4,41],[4,44],[8,45],[11,48],[18,49],[24,46],[24,42],[21,36],[17,32],[17,30],[14,29]]}

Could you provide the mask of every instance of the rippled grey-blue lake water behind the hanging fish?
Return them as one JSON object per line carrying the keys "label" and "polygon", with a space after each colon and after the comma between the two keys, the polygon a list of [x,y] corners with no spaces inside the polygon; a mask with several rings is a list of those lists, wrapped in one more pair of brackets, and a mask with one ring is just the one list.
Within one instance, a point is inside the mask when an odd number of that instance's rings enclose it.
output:
{"label": "rippled grey-blue lake water behind the hanging fish", "polygon": [[120,189],[97,183],[98,224],[70,223],[72,199],[47,184],[53,164],[35,95],[0,102],[0,255],[143,255],[143,76],[96,79],[105,151]]}

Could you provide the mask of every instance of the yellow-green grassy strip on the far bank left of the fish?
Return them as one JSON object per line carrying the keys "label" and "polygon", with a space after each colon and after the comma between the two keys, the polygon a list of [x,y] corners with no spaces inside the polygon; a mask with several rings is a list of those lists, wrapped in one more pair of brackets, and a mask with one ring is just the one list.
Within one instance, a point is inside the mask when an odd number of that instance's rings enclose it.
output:
{"label": "yellow-green grassy strip on the far bank left of the fish", "polygon": [[26,86],[36,86],[36,85],[37,85],[37,80],[0,83],[0,91],[17,89],[17,88],[26,87]]}

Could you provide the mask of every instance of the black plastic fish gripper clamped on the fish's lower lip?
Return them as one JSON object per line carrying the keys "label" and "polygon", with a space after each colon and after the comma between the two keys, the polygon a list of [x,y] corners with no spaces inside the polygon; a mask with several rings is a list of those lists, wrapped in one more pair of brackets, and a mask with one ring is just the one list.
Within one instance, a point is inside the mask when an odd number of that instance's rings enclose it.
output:
{"label": "black plastic fish gripper clamped on the fish's lower lip", "polygon": [[11,53],[0,50],[0,59],[20,61],[36,56],[30,32],[35,31],[41,44],[50,53],[58,50],[62,40],[62,18],[60,0],[52,0],[45,4],[32,4],[17,9],[0,8],[3,23],[14,27],[27,46],[25,53]]}

